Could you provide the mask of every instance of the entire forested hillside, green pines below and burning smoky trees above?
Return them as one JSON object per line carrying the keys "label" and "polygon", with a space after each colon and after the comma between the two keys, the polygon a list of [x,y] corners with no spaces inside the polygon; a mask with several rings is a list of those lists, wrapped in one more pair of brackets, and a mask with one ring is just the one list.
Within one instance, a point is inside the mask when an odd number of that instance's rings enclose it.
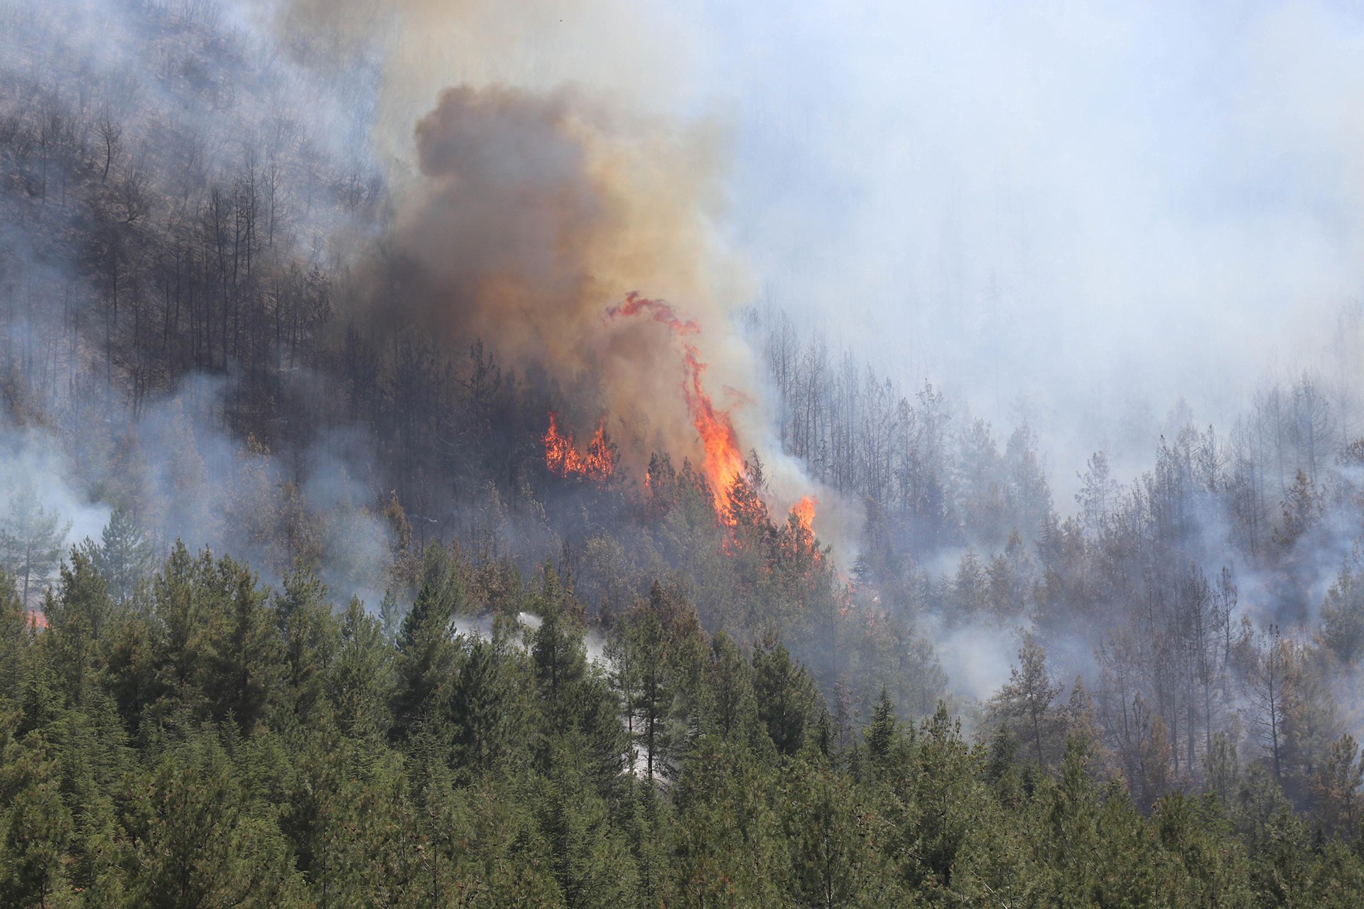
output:
{"label": "entire forested hillside, green pines below and burning smoky trees above", "polygon": [[[1364,899],[1357,372],[1072,482],[768,300],[719,472],[685,300],[578,322],[674,333],[690,448],[488,315],[491,213],[610,209],[610,117],[447,93],[413,173],[310,4],[72,7],[0,4],[0,905]],[[423,258],[443,155],[492,278]]]}

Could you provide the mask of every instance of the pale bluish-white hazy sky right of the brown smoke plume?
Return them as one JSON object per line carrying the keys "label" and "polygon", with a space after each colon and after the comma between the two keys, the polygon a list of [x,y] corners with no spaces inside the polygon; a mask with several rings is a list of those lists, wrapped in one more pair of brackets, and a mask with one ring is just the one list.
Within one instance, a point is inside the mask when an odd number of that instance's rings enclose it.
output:
{"label": "pale bluish-white hazy sky right of the brown smoke plume", "polygon": [[908,383],[1095,436],[1139,399],[1222,418],[1360,288],[1359,8],[674,10],[757,281]]}

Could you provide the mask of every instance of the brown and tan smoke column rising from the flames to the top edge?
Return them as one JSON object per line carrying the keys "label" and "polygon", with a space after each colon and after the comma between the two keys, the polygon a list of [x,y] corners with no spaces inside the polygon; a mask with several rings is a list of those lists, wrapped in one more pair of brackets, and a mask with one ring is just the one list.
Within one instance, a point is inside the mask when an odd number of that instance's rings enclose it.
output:
{"label": "brown and tan smoke column rising from the flames to the top edge", "polygon": [[[742,281],[713,229],[720,131],[678,124],[659,113],[666,104],[647,97],[664,56],[637,61],[630,79],[615,70],[637,53],[587,65],[552,27],[577,15],[592,31],[606,22],[607,34],[629,31],[636,18],[627,8],[477,0],[394,7],[400,20],[385,40],[381,120],[401,119],[434,82],[453,76],[453,87],[439,91],[415,129],[408,121],[415,155],[397,143],[396,157],[415,173],[394,174],[393,226],[366,305],[379,323],[434,326],[451,342],[483,338],[565,387],[592,376],[606,413],[582,416],[608,416],[622,452],[638,463],[652,447],[697,455],[700,444],[674,339],[649,322],[608,324],[608,307],[640,292],[697,320],[713,387],[747,386],[749,360],[726,312],[742,300]],[[364,0],[300,0],[285,20],[330,29],[340,46],[375,33],[376,11]],[[535,41],[547,49],[527,46]],[[420,48],[439,50],[413,53]],[[468,53],[451,56],[450,48]],[[544,60],[527,65],[542,49]],[[577,79],[580,63],[585,79]],[[376,142],[383,147],[386,139]]]}

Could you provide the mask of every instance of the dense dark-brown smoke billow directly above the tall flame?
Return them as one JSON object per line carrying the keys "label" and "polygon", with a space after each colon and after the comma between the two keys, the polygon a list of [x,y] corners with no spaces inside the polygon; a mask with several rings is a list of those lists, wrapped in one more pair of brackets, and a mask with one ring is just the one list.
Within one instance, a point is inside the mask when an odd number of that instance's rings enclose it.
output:
{"label": "dense dark-brown smoke billow directly above the tall flame", "polygon": [[727,331],[712,288],[715,144],[569,89],[443,91],[417,124],[421,179],[393,232],[409,300],[451,337],[487,338],[565,383],[589,371],[630,435],[694,450],[671,335],[604,313],[647,289]]}

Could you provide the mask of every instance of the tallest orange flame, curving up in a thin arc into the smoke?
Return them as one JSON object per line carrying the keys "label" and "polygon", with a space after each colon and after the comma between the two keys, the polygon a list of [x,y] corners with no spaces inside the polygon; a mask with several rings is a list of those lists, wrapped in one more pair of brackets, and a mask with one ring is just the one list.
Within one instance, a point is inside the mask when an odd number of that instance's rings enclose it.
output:
{"label": "tallest orange flame, curving up in a thin arc into the smoke", "polygon": [[682,395],[686,398],[687,410],[692,413],[692,424],[701,436],[701,447],[705,457],[701,461],[701,473],[711,485],[711,496],[715,499],[715,514],[724,523],[732,523],[731,497],[734,481],[743,476],[743,455],[739,450],[739,436],[734,431],[734,421],[730,412],[716,407],[711,395],[705,392],[701,375],[707,364],[701,361],[701,352],[686,335],[694,335],[700,326],[690,319],[681,319],[668,304],[662,300],[649,300],[632,292],[626,294],[625,303],[606,311],[608,319],[617,316],[633,316],[647,313],[655,322],[664,324],[679,339],[682,345],[682,363],[686,368],[686,378],[682,382]]}

